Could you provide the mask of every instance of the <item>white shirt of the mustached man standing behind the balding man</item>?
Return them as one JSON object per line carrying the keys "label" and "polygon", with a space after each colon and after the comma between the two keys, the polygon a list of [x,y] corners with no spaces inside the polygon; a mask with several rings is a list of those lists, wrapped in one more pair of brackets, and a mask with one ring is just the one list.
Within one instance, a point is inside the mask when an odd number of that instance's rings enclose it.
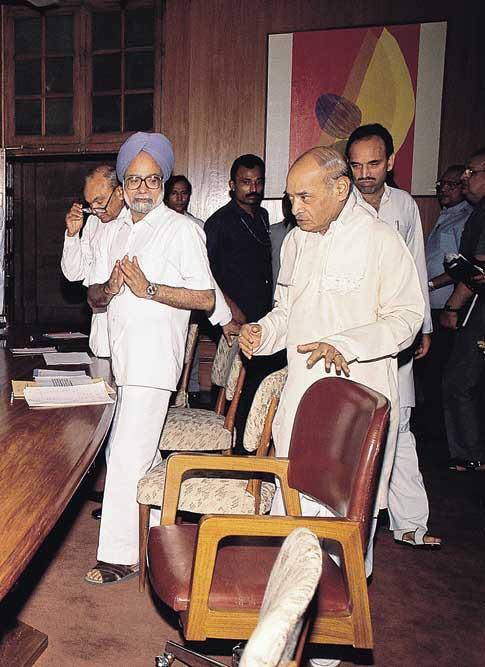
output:
{"label": "white shirt of the mustached man standing behind the balding man", "polygon": [[[419,283],[425,304],[423,333],[431,333],[433,331],[433,324],[431,322],[431,309],[429,305],[428,271],[426,269],[423,227],[416,202],[405,190],[390,188],[388,185],[384,185],[384,194],[379,204],[379,211],[376,211],[375,208],[365,201],[362,194],[355,187],[354,192],[357,196],[357,201],[364,208],[399,232],[411,253],[418,271]],[[402,408],[414,407],[415,405],[412,359],[399,367],[399,400]]]}

